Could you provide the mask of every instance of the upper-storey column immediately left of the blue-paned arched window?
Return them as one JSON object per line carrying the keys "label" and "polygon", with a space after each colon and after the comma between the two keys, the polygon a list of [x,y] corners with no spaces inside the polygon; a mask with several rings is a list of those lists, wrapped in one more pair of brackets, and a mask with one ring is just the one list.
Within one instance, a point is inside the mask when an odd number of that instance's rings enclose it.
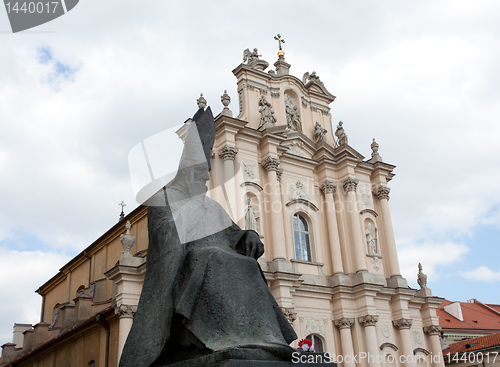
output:
{"label": "upper-storey column immediately left of the blue-paned arched window", "polygon": [[[267,182],[270,186],[268,199],[271,205],[265,210],[271,211],[269,214],[271,215],[272,227],[267,232],[271,233],[274,260],[284,260],[286,259],[286,246],[279,186],[279,177],[283,171],[279,168],[280,160],[278,158],[267,157],[261,164],[267,171]],[[264,190],[264,195],[267,194],[267,190]]]}

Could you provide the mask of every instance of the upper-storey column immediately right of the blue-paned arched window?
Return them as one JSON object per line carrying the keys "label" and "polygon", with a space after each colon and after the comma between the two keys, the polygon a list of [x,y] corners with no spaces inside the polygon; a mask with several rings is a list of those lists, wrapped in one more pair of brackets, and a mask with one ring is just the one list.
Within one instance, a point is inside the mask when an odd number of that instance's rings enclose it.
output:
{"label": "upper-storey column immediately right of the blue-paned arched window", "polygon": [[335,213],[335,199],[333,197],[337,191],[337,184],[326,180],[319,188],[323,191],[327,203],[326,217],[328,220],[328,239],[330,240],[330,249],[332,251],[333,274],[343,273],[344,266],[342,265],[339,228],[337,225],[337,214]]}

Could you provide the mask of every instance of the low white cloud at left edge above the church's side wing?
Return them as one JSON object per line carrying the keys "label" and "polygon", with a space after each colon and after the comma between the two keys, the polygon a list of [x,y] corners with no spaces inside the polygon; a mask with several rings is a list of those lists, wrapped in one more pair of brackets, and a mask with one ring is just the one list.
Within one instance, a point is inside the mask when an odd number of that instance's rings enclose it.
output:
{"label": "low white cloud at left edge above the church's side wing", "polygon": [[0,340],[12,340],[14,323],[40,322],[42,298],[34,291],[71,259],[57,252],[15,251],[0,247]]}

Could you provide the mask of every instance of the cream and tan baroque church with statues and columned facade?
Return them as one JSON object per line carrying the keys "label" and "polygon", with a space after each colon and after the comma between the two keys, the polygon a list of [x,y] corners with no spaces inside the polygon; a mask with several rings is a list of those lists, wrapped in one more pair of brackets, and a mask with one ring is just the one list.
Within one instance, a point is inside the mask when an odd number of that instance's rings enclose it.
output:
{"label": "cream and tan baroque church with statues and columned facade", "polygon": [[[290,75],[281,47],[274,68],[260,57],[247,49],[233,70],[237,115],[221,97],[208,195],[259,233],[259,263],[299,339],[343,367],[444,366],[443,299],[421,271],[420,290],[400,273],[388,203],[395,166],[375,140],[368,159],[349,145],[315,72]],[[147,220],[137,207],[41,285],[40,322],[15,324],[0,366],[116,367],[144,280]]]}

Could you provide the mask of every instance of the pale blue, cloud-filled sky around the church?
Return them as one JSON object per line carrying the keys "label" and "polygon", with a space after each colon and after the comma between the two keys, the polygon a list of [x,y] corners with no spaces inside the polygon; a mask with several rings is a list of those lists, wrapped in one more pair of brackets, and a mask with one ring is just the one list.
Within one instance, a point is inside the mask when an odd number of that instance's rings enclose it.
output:
{"label": "pale blue, cloud-filled sky around the church", "polygon": [[0,345],[37,323],[34,291],[136,207],[127,156],[200,93],[237,115],[243,50],[316,71],[333,124],[389,183],[403,276],[500,303],[500,2],[82,0],[12,34],[0,9]]}

